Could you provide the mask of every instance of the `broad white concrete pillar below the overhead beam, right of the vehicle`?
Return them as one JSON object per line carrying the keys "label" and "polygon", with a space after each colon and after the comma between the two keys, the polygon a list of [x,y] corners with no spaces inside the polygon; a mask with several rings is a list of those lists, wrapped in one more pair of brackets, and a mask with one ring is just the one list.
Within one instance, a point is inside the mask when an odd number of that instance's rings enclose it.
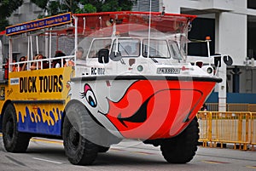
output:
{"label": "broad white concrete pillar below the overhead beam, right of the vehicle", "polygon": [[216,53],[230,54],[235,66],[244,66],[243,61],[247,57],[247,15],[221,12],[216,22]]}

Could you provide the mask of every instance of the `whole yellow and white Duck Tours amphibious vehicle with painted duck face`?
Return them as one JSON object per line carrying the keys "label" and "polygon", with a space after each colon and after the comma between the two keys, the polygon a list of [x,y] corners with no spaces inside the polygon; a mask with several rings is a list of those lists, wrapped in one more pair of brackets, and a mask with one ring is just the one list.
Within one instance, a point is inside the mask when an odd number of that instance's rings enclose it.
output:
{"label": "whole yellow and white Duck Tours amphibious vehicle with painted duck face", "polygon": [[[86,165],[121,140],[160,145],[167,162],[197,150],[197,111],[221,79],[186,60],[194,15],[155,12],[59,14],[6,28],[1,80],[6,151],[32,137],[63,139],[68,160]],[[26,54],[13,59],[13,49]],[[68,54],[68,55],[67,55]]]}

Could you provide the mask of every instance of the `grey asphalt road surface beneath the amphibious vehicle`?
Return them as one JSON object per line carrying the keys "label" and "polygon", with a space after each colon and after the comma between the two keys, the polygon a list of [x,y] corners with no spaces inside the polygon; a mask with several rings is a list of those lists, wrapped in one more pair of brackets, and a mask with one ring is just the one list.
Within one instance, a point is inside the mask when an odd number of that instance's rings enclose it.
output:
{"label": "grey asphalt road surface beneath the amphibious vehicle", "polygon": [[61,140],[33,138],[26,153],[9,153],[4,150],[0,134],[0,170],[256,171],[256,151],[200,146],[191,162],[169,164],[158,147],[125,140],[113,145],[107,153],[100,153],[94,165],[75,166],[68,162]]}

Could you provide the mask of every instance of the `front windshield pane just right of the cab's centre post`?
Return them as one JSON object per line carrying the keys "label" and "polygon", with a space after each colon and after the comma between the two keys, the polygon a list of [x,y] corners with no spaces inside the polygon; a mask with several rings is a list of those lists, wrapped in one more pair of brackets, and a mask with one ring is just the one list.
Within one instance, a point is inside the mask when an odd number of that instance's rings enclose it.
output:
{"label": "front windshield pane just right of the cab's centre post", "polygon": [[[166,40],[149,39],[149,57],[170,58]],[[148,57],[148,39],[143,40],[143,56]]]}

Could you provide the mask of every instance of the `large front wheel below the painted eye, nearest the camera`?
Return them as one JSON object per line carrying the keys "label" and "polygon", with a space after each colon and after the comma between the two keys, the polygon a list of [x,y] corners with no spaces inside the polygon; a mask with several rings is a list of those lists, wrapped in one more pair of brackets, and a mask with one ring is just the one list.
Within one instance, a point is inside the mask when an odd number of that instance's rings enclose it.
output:
{"label": "large front wheel below the painted eye, nearest the camera", "polygon": [[96,160],[98,145],[90,141],[94,131],[94,121],[82,104],[72,104],[67,108],[63,123],[63,144],[69,162],[89,165]]}

